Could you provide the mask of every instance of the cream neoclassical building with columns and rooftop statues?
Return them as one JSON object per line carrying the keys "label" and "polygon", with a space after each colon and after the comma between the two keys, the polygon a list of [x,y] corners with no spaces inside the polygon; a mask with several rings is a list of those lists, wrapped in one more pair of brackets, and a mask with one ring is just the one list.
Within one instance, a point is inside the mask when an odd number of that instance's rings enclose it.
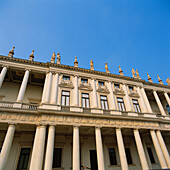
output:
{"label": "cream neoclassical building with columns and rooftop statues", "polygon": [[0,55],[0,170],[170,168],[169,79],[13,55]]}

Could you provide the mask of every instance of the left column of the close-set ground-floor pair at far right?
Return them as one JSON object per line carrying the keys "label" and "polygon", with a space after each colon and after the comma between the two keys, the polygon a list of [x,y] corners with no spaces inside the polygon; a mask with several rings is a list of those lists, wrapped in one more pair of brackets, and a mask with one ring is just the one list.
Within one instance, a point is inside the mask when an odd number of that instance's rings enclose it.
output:
{"label": "left column of the close-set ground-floor pair at far right", "polygon": [[160,147],[158,139],[156,137],[156,133],[155,133],[154,130],[151,130],[150,134],[151,134],[151,137],[152,137],[152,141],[153,141],[153,144],[154,144],[154,147],[155,147],[155,151],[156,151],[156,154],[158,156],[161,168],[165,168],[166,169],[166,168],[168,168],[168,166],[167,166],[166,161],[164,159],[164,155],[162,153],[161,147]]}

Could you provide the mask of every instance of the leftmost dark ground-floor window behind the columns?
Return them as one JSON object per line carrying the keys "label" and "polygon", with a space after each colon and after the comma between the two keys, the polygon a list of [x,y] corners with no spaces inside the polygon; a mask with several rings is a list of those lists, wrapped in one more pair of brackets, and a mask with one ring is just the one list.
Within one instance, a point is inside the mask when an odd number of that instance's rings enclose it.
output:
{"label": "leftmost dark ground-floor window behind the columns", "polygon": [[24,170],[28,168],[31,148],[21,148],[20,157],[18,161],[17,170]]}

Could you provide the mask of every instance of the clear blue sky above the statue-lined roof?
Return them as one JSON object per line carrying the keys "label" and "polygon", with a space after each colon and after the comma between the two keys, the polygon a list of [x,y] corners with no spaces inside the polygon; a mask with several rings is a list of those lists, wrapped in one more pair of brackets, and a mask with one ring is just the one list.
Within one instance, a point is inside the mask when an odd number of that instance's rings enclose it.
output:
{"label": "clear blue sky above the statue-lined roof", "polygon": [[1,0],[0,54],[15,45],[15,57],[61,62],[124,75],[138,69],[157,83],[170,77],[170,0]]}

